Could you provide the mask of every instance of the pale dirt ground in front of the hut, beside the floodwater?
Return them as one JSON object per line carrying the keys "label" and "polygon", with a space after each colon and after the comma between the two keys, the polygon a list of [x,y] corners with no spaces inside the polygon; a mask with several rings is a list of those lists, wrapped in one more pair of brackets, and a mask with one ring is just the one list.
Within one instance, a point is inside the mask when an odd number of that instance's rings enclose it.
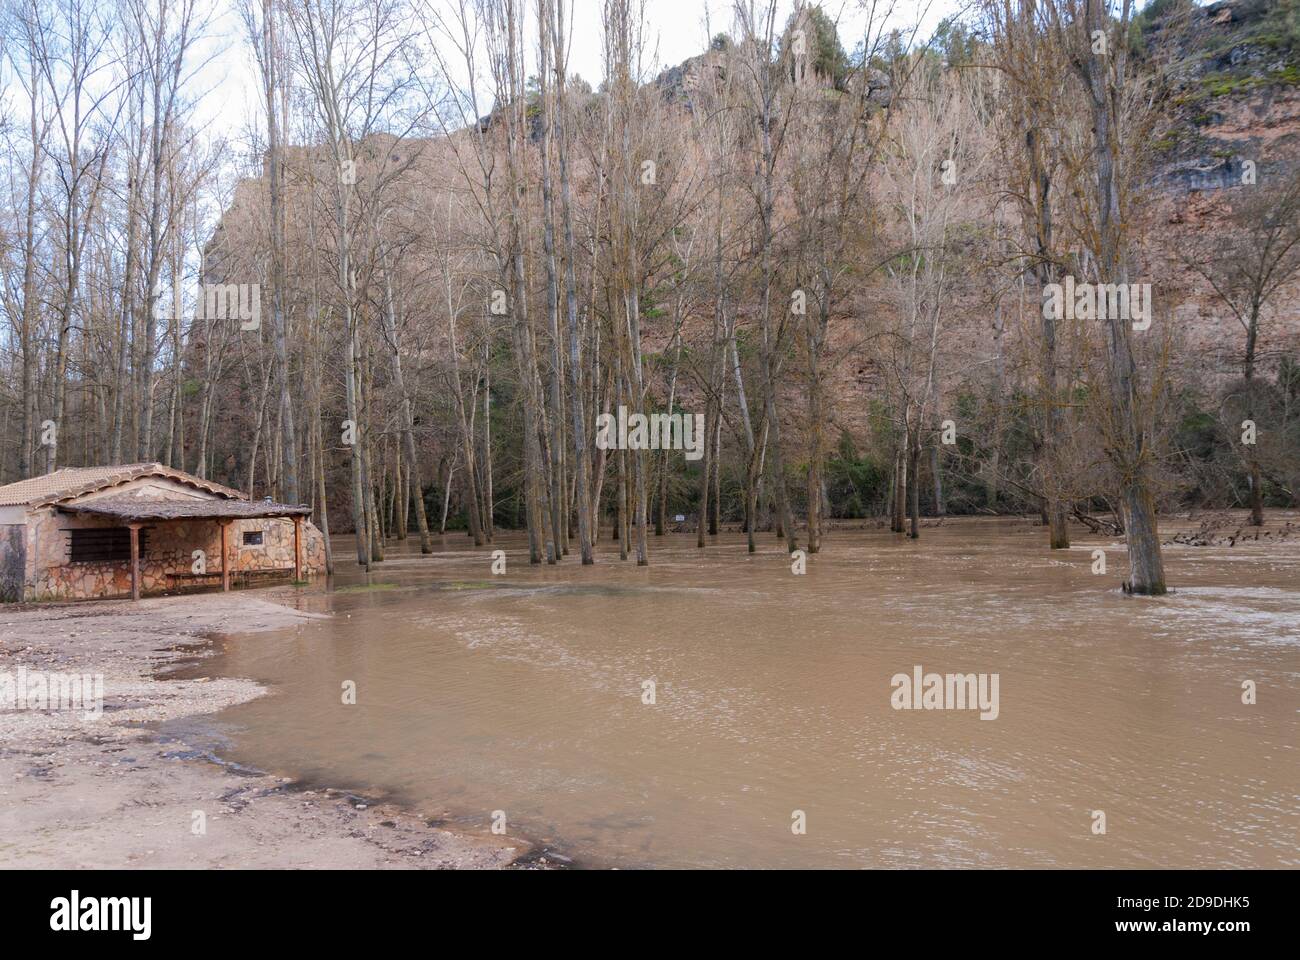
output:
{"label": "pale dirt ground in front of the hut, beside the floodwater", "polygon": [[0,606],[0,678],[20,667],[104,678],[98,717],[0,702],[0,868],[547,865],[523,842],[464,836],[363,797],[304,790],[146,728],[263,696],[251,680],[155,678],[203,656],[205,633],[318,617],[263,597]]}

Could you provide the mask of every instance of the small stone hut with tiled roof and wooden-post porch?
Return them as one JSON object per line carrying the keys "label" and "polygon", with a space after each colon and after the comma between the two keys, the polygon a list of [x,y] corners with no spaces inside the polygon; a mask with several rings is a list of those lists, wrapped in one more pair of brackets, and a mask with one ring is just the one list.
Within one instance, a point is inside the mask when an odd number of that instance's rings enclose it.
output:
{"label": "small stone hut with tiled roof and wooden-post porch", "polygon": [[65,467],[0,487],[0,600],[303,580],[325,568],[308,514],[161,463]]}

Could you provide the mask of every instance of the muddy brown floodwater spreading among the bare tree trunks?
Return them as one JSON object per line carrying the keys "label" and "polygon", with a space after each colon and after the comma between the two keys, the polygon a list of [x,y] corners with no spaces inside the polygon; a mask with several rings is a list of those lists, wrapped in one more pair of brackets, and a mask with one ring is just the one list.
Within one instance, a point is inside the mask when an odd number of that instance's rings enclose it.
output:
{"label": "muddy brown floodwater spreading among the bare tree trunks", "polygon": [[[759,546],[670,535],[637,568],[602,540],[584,568],[408,540],[304,589],[329,619],[224,637],[200,670],[274,692],[213,730],[593,865],[1300,865],[1300,544],[1169,546],[1162,598],[1121,593],[1121,544],[1024,522],[838,531],[803,576]],[[918,665],[997,674],[996,719],[893,709]]]}

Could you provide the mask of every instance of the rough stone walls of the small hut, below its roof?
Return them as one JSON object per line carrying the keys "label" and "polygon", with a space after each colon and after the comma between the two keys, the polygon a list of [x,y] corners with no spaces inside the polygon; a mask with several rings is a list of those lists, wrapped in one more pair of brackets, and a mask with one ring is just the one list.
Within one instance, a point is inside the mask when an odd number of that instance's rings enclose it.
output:
{"label": "rough stone walls of the small hut, below its roof", "polygon": [[[124,597],[131,593],[130,561],[103,563],[70,563],[69,529],[122,527],[116,520],[73,516],[53,509],[35,510],[27,522],[27,600],[90,600]],[[244,545],[246,531],[261,531],[261,545]],[[203,552],[202,568],[220,583],[221,528],[216,520],[166,520],[146,523],[144,549],[140,553],[140,592],[159,593],[192,585],[195,552]],[[280,571],[294,572],[294,523],[291,519],[234,520],[230,523],[229,549],[233,583],[240,574]],[[325,570],[325,539],[311,520],[303,520],[303,574],[311,576]],[[198,581],[203,583],[203,581]]]}

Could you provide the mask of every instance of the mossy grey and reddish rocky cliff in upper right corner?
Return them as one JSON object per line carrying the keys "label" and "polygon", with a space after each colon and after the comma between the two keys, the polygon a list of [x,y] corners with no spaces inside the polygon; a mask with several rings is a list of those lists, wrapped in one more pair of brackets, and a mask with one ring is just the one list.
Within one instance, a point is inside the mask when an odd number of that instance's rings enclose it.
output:
{"label": "mossy grey and reddish rocky cliff in upper right corner", "polygon": [[[1153,7],[1161,17],[1139,23],[1143,55],[1164,72],[1167,95],[1143,247],[1149,272],[1178,304],[1173,319],[1190,358],[1206,373],[1231,377],[1240,325],[1182,258],[1231,243],[1234,208],[1300,168],[1300,1]],[[1280,290],[1266,308],[1273,363],[1300,351],[1296,287]]]}

